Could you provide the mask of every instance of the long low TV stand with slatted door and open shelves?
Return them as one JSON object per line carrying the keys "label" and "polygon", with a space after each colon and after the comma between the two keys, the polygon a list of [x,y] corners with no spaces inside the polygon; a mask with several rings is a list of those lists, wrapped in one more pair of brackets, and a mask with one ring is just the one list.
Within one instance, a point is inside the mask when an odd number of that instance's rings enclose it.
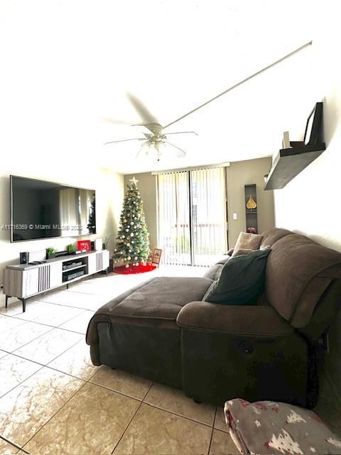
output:
{"label": "long low TV stand with slatted door and open shelves", "polygon": [[[75,264],[72,267],[72,262]],[[80,255],[67,255],[48,259],[41,264],[8,265],[4,270],[4,289],[6,308],[8,299],[16,297],[23,303],[26,300],[50,289],[74,283],[97,272],[107,271],[109,267],[109,250],[92,251]],[[84,274],[67,279],[70,273],[82,270]]]}

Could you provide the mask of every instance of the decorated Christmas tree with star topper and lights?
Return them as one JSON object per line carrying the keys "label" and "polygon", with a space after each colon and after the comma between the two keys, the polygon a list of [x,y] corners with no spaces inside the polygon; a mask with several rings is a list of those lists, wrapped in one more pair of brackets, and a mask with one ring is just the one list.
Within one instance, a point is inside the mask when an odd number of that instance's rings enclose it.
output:
{"label": "decorated Christmas tree with star topper and lights", "polygon": [[146,264],[149,250],[149,233],[144,216],[144,206],[137,188],[136,178],[131,178],[124,196],[117,248],[114,250],[114,262],[123,262],[125,267]]}

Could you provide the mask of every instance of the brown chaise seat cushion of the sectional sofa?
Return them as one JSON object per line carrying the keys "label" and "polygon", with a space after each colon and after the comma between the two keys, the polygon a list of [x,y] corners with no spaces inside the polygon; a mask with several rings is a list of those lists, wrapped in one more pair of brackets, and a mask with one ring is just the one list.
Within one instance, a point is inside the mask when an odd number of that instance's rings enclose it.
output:
{"label": "brown chaise seat cushion of the sectional sofa", "polygon": [[87,343],[97,343],[101,322],[177,328],[180,309],[202,299],[211,283],[200,277],[157,277],[139,284],[96,311],[87,328]]}

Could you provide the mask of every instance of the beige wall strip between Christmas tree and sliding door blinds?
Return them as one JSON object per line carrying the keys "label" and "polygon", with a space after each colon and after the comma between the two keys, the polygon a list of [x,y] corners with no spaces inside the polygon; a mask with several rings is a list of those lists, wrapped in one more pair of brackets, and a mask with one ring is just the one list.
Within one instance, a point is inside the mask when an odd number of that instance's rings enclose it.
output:
{"label": "beige wall strip between Christmas tree and sliding door blinds", "polygon": [[[134,176],[139,181],[137,187],[144,201],[144,214],[146,215],[150,247],[153,250],[158,246],[156,176],[152,176],[150,172],[136,173]],[[124,191],[126,191],[126,185],[130,178],[133,178],[133,175],[124,176]]]}

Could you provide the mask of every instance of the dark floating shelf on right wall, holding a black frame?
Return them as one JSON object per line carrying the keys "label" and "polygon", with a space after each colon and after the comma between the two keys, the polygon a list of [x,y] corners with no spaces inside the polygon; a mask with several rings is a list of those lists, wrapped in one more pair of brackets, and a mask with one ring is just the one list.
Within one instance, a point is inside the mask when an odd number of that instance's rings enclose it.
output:
{"label": "dark floating shelf on right wall, holding a black frame", "polygon": [[304,145],[304,142],[291,142],[290,144],[292,145],[290,149],[281,149],[276,156],[266,179],[264,190],[284,188],[288,182],[325,151],[324,142],[313,145]]}

